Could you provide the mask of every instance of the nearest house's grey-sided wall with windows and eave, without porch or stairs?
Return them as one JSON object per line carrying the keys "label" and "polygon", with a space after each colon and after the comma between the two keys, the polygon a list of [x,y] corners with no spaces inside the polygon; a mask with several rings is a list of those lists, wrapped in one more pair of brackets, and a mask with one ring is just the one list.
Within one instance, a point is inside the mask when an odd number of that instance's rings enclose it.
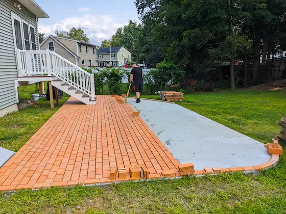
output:
{"label": "nearest house's grey-sided wall with windows and eave, without porch or stairs", "polygon": [[18,110],[16,48],[39,49],[38,18],[49,16],[33,0],[0,1],[0,117]]}

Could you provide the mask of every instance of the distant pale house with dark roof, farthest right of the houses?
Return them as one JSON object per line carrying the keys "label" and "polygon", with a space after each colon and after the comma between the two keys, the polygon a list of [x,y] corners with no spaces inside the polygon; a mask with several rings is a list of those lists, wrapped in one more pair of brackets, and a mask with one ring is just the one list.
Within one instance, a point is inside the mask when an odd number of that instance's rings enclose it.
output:
{"label": "distant pale house with dark roof, farthest right of the houses", "polygon": [[124,66],[131,63],[131,55],[132,53],[124,47],[101,48],[97,51],[98,66]]}

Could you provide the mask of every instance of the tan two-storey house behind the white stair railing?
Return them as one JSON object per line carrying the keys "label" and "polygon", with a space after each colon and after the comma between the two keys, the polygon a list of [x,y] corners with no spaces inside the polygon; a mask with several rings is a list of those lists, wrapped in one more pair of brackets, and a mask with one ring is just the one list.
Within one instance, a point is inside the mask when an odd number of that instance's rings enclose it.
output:
{"label": "tan two-storey house behind the white stair railing", "polygon": [[40,44],[41,50],[49,48],[80,67],[98,66],[97,47],[97,45],[52,35],[47,36]]}

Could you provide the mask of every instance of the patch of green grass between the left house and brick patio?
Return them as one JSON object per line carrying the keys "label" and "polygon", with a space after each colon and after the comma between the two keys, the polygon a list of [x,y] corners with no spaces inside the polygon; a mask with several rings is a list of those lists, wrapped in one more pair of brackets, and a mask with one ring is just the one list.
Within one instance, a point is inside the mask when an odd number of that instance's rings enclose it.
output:
{"label": "patch of green grass between the left house and brick patio", "polygon": [[39,99],[28,108],[0,118],[0,146],[18,151],[67,99],[62,97],[54,109],[48,100]]}

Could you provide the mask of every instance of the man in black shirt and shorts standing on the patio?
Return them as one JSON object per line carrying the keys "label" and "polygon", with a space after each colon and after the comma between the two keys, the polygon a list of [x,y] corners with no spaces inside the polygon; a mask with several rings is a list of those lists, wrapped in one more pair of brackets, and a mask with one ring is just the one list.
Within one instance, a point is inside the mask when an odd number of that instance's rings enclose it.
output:
{"label": "man in black shirt and shorts standing on the patio", "polygon": [[136,103],[140,102],[140,95],[143,89],[143,77],[142,77],[142,68],[138,67],[136,63],[131,63],[131,74],[129,83],[131,83],[133,79],[134,90],[136,92]]}

